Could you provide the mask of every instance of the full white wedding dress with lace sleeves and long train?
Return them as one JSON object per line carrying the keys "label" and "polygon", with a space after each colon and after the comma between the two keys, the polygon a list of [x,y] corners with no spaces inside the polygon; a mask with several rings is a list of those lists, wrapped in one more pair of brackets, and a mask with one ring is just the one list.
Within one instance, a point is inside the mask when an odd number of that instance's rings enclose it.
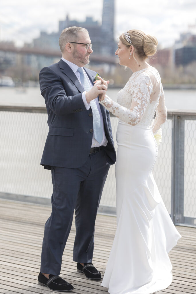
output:
{"label": "full white wedding dress with lace sleeves and long train", "polygon": [[181,237],[152,175],[158,151],[153,133],[167,118],[158,71],[148,66],[134,72],[117,101],[100,101],[119,118],[117,230],[101,285],[110,294],[149,294],[171,284],[167,253]]}

